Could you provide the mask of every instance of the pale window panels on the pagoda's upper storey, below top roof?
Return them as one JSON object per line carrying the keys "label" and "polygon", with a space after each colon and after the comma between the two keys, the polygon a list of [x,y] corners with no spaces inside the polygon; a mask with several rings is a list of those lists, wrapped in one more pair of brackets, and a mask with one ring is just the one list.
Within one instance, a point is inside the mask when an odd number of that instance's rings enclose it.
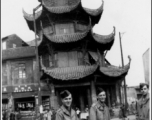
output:
{"label": "pale window panels on the pagoda's upper storey, below top roof", "polygon": [[70,34],[74,33],[73,23],[68,24],[56,24],[55,25],[56,34]]}

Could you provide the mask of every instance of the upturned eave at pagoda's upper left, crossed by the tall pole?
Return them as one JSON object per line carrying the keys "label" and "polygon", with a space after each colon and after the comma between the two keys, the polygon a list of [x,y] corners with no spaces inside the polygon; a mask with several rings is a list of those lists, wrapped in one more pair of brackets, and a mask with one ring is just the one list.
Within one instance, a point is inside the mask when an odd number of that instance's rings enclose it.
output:
{"label": "upturned eave at pagoda's upper left, crossed by the tall pole", "polygon": [[[34,16],[33,14],[28,14],[24,11],[24,9],[22,10],[23,11],[23,16],[24,18],[27,20],[27,21],[34,21]],[[38,11],[37,13],[35,13],[35,20],[37,20],[38,18],[40,18],[40,16],[42,15],[42,10]]]}

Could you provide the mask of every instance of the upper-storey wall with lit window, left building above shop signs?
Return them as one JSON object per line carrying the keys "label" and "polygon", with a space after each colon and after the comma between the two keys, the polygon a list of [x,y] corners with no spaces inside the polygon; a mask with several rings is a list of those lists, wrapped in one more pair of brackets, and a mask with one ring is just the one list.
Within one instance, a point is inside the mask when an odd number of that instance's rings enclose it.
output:
{"label": "upper-storey wall with lit window, left building above shop signs", "polygon": [[[25,65],[20,68],[20,65]],[[2,86],[18,86],[37,83],[34,58],[14,59],[2,62]]]}

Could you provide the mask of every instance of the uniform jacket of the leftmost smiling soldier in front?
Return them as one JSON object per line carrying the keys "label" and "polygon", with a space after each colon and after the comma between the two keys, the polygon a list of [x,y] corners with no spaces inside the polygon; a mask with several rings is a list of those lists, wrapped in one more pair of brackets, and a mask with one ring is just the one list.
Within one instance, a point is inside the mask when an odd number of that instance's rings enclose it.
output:
{"label": "uniform jacket of the leftmost smiling soldier in front", "polygon": [[61,106],[57,110],[55,120],[79,120],[75,110],[71,109],[71,113],[64,107]]}

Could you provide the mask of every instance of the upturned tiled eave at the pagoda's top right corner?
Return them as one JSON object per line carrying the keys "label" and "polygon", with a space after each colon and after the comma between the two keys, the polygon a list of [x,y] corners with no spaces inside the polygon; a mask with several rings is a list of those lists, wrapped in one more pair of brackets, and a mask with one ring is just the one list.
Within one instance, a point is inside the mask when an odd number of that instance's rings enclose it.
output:
{"label": "upturned tiled eave at the pagoda's top right corner", "polygon": [[83,7],[83,9],[90,16],[98,16],[98,15],[102,14],[103,6],[104,6],[104,1],[102,0],[102,4],[98,9],[89,9],[89,8],[85,8],[85,7]]}

